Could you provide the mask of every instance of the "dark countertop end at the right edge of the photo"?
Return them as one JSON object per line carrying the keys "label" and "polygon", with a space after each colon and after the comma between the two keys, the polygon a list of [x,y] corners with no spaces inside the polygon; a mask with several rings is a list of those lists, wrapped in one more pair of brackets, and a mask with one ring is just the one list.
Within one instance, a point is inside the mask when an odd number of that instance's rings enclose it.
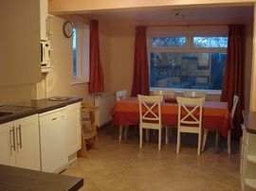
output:
{"label": "dark countertop end at the right edge of the photo", "polygon": [[256,134],[256,112],[243,111],[243,117],[247,131]]}

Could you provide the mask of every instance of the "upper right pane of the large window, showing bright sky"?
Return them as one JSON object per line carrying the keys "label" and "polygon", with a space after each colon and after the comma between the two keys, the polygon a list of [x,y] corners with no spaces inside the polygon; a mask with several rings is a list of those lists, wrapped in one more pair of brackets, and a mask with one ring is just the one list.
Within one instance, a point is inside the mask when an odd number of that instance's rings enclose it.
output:
{"label": "upper right pane of the large window, showing bright sky", "polygon": [[194,47],[228,47],[228,37],[193,37]]}

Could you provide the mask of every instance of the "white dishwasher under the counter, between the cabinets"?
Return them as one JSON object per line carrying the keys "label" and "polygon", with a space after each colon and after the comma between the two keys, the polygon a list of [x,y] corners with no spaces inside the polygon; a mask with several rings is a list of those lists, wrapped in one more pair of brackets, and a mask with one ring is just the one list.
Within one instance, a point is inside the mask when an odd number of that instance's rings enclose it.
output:
{"label": "white dishwasher under the counter, between the cabinets", "polygon": [[39,114],[41,166],[44,172],[58,172],[68,162],[65,109]]}

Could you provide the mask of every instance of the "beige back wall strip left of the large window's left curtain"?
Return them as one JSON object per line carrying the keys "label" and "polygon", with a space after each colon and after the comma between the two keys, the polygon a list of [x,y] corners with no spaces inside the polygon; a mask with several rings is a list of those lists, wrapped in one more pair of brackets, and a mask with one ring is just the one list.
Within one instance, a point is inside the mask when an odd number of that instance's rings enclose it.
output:
{"label": "beige back wall strip left of the large window's left curtain", "polygon": [[134,70],[135,22],[111,22],[111,90],[131,93]]}

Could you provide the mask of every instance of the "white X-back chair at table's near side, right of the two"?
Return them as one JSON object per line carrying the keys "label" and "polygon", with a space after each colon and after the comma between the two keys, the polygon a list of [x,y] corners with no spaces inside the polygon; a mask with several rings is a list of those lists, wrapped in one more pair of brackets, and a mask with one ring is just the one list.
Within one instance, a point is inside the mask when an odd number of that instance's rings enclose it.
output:
{"label": "white X-back chair at table's near side, right of the two", "polygon": [[202,139],[202,113],[205,98],[177,97],[176,99],[178,103],[176,153],[179,153],[180,149],[180,133],[189,132],[198,134],[197,155],[200,155]]}

